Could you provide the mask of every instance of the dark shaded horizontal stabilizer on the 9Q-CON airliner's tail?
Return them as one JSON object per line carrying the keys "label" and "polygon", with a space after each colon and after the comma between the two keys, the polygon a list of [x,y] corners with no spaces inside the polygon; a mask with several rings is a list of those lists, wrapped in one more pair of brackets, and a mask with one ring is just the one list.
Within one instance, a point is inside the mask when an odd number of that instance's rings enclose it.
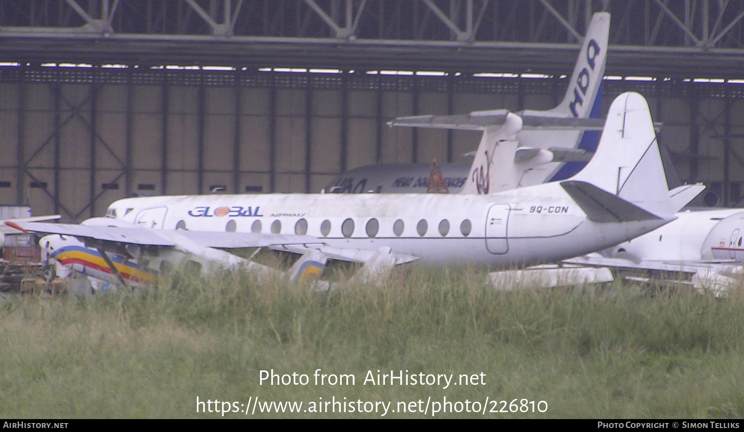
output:
{"label": "dark shaded horizontal stabilizer on the 9Q-CON airliner's tail", "polygon": [[661,217],[587,182],[566,180],[560,185],[594,222],[658,220]]}

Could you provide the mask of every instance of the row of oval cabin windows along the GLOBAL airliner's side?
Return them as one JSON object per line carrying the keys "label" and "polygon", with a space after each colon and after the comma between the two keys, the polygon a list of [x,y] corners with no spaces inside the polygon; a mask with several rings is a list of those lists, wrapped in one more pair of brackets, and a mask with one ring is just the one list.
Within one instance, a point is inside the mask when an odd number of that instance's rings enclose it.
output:
{"label": "row of oval cabin windows along the GLOBAL airliner's side", "polygon": [[[261,232],[262,224],[260,220],[254,220],[253,224],[251,225],[251,232]],[[341,234],[344,235],[344,237],[349,238],[354,233],[354,221],[351,218],[348,218],[344,220],[343,223],[341,223]],[[396,220],[395,223],[393,223],[393,233],[396,235],[396,237],[400,237],[403,235],[403,229],[405,228],[405,223],[403,223],[403,220]],[[442,219],[439,223],[439,233],[442,235],[442,237],[445,237],[447,234],[449,234],[449,220]],[[184,220],[179,220],[179,223],[176,224],[176,229],[186,229],[186,222]],[[225,231],[226,232],[235,232],[237,230],[237,224],[234,220],[229,220],[227,225],[225,225]],[[379,232],[379,221],[376,220],[374,217],[367,221],[367,226],[365,226],[365,231],[367,232],[368,237],[373,238],[376,237],[377,233]],[[426,235],[426,232],[429,231],[429,222],[426,221],[426,219],[419,220],[419,222],[416,224],[416,232],[418,235],[423,237]],[[472,223],[470,223],[469,219],[463,220],[460,224],[460,233],[463,235],[463,237],[467,237],[470,235],[470,232],[472,231]],[[271,232],[272,234],[279,234],[281,232],[281,221],[275,220],[272,222],[271,226]],[[295,223],[295,234],[297,235],[306,235],[307,234],[307,220],[300,219]],[[328,237],[330,234],[330,220],[324,220],[321,223],[321,235],[323,237]]]}

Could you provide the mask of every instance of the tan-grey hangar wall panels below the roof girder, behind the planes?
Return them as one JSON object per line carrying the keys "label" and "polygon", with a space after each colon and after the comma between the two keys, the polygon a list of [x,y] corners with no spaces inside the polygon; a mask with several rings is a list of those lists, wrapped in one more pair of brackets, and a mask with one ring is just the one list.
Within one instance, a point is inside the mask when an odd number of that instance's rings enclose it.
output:
{"label": "tan-grey hangar wall panels below the roof girder, behind the planes", "polygon": [[[390,129],[398,115],[554,107],[565,79],[355,73],[0,69],[0,203],[64,220],[132,194],[316,192],[385,162],[462,162],[478,133]],[[741,88],[741,89],[740,89]],[[606,81],[644,94],[684,180],[728,203],[744,181],[744,86]]]}

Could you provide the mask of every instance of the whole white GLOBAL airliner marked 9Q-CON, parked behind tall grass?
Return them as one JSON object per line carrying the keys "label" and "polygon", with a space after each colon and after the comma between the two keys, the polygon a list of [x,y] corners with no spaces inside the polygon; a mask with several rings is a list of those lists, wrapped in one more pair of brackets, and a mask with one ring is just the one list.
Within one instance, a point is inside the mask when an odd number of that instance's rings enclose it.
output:
{"label": "whole white GLOBAL airliner marked 9Q-CON, parked behind tall grass", "polygon": [[[522,119],[513,113],[503,116],[501,126],[486,127],[490,154],[515,148],[519,130]],[[468,183],[467,188],[478,188],[476,179]],[[673,220],[678,209],[648,105],[629,92],[613,102],[589,164],[562,182],[496,194],[138,197],[118,200],[107,217],[80,226],[17,226],[77,238],[86,246],[77,250],[77,264],[88,266],[89,256],[83,255],[94,255],[93,248],[98,270],[105,262],[120,282],[124,278],[112,256],[136,259],[153,275],[166,273],[176,256],[202,271],[214,264],[265,270],[217,249],[241,247],[303,254],[292,271],[300,279],[320,273],[327,259],[356,261],[365,265],[354,277],[364,281],[414,260],[493,266],[560,261],[638,237]],[[52,246],[47,237],[42,247],[46,241]],[[51,255],[67,252],[59,246]]]}

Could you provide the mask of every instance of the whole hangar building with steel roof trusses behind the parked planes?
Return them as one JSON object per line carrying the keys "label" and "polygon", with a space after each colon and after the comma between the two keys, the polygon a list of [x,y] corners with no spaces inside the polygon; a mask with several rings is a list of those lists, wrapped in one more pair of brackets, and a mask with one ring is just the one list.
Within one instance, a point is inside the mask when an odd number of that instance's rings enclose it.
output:
{"label": "whole hangar building with steel roof trusses behind the parked planes", "polygon": [[737,204],[744,3],[709,0],[2,0],[0,203],[79,222],[135,194],[464,162],[478,134],[385,123],[554,107],[600,10],[603,112],[641,92],[683,180]]}

